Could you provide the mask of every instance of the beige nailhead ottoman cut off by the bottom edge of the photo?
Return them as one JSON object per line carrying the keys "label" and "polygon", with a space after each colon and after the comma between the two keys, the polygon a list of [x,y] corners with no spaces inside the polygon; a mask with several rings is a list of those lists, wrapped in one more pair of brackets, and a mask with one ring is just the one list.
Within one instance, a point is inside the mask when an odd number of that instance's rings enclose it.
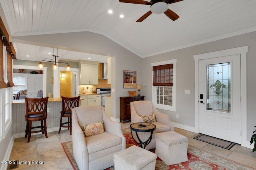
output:
{"label": "beige nailhead ottoman cut off by the bottom edge of the photo", "polygon": [[133,145],[114,154],[115,170],[155,170],[156,154]]}

